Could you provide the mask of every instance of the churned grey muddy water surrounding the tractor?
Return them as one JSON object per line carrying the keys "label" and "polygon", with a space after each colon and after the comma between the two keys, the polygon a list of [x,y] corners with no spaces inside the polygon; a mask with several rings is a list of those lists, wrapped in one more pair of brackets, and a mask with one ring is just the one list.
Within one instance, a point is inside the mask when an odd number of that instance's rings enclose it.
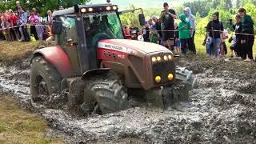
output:
{"label": "churned grey muddy water surrounding the tractor", "polygon": [[[256,98],[253,78],[239,72],[190,64],[197,70],[199,88],[190,91],[189,102],[168,110],[134,107],[115,114],[74,117],[65,110],[30,104],[30,70],[0,68],[0,88],[14,93],[20,102],[42,114],[67,142],[256,142]],[[238,76],[234,76],[238,75]]]}

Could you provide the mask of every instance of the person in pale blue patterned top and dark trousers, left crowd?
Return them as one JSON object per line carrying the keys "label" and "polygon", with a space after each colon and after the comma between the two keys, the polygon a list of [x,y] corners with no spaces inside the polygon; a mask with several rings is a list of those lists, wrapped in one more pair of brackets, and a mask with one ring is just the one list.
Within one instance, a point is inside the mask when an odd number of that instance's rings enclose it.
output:
{"label": "person in pale blue patterned top and dark trousers, left crowd", "polygon": [[26,18],[26,13],[22,10],[22,7],[18,7],[18,26],[19,26],[19,31],[22,35],[22,41],[29,42],[30,41],[30,35],[27,33],[27,18]]}

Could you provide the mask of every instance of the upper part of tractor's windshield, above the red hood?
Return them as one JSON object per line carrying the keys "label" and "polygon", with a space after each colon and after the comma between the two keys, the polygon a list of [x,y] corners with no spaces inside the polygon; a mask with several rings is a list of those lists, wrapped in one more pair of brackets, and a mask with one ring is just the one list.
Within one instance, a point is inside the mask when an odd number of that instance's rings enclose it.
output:
{"label": "upper part of tractor's windshield, above the red hood", "polygon": [[116,12],[84,14],[86,38],[103,36],[106,39],[123,39],[122,25]]}

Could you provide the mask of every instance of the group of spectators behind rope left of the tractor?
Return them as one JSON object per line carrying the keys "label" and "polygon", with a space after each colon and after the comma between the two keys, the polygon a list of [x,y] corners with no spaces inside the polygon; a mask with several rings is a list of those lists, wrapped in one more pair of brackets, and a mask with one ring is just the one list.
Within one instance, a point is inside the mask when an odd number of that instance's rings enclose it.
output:
{"label": "group of spectators behind rope left of the tractor", "polygon": [[53,22],[52,12],[46,17],[33,8],[24,10],[20,2],[16,2],[16,10],[6,10],[0,15],[0,39],[7,41],[29,42],[46,40],[51,36],[50,26]]}

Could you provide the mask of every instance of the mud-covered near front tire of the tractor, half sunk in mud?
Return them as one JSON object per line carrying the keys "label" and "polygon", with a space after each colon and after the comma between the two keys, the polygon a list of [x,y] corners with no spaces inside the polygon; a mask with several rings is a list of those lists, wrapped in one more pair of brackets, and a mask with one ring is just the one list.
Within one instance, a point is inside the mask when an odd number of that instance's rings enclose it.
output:
{"label": "mud-covered near front tire of the tractor, half sunk in mud", "polygon": [[94,99],[101,114],[109,114],[128,108],[128,94],[122,86],[122,81],[112,74],[101,74],[100,76],[86,80],[84,91],[84,102]]}

